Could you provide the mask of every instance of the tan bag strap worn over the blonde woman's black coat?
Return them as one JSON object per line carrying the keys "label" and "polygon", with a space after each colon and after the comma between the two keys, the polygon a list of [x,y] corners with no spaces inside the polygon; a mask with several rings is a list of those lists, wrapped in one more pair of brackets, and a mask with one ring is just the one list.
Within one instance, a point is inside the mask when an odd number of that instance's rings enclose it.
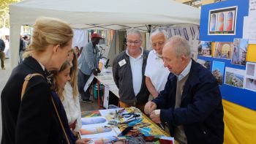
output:
{"label": "tan bag strap worn over the blonde woman's black coat", "polygon": [[[34,74],[29,74],[29,75],[27,75],[27,76],[25,77],[24,82],[23,82],[23,86],[22,86],[22,90],[21,90],[20,102],[21,102],[22,99],[23,99],[24,93],[25,93],[25,91],[26,91],[26,87],[27,87],[28,84],[29,84],[29,80],[30,80],[32,77],[37,76],[37,75],[42,76],[42,75],[39,74],[39,73],[34,73]],[[42,76],[42,77],[44,77],[44,76]],[[54,110],[55,110],[55,112],[56,112],[56,114],[57,114],[57,116],[58,116],[59,123],[61,124],[61,129],[62,129],[62,131],[63,131],[63,133],[64,133],[64,136],[65,136],[65,138],[66,138],[67,143],[69,144],[69,139],[68,139],[68,137],[67,137],[67,133],[66,133],[66,131],[65,131],[65,129],[64,129],[64,126],[63,126],[63,124],[62,124],[61,117],[59,116],[59,112],[58,112],[58,110],[57,110],[57,107],[56,107],[56,105],[55,105],[55,102],[53,101],[53,97],[51,96],[50,98],[51,98],[51,102],[53,103]]]}

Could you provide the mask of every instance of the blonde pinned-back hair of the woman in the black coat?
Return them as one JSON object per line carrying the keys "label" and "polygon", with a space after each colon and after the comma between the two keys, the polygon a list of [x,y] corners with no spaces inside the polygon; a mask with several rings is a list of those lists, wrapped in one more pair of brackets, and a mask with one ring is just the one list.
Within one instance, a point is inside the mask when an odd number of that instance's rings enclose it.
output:
{"label": "blonde pinned-back hair of the woman in the black coat", "polygon": [[34,52],[43,52],[49,45],[66,46],[73,37],[71,27],[57,18],[37,18],[34,24],[31,45],[28,46],[23,58]]}

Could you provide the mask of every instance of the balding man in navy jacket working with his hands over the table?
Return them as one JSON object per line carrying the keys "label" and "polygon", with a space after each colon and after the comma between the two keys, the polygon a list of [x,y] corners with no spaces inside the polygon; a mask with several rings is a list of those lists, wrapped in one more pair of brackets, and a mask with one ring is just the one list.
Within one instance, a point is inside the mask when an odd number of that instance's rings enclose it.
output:
{"label": "balding man in navy jacket working with his hands over the table", "polygon": [[162,52],[170,75],[145,113],[156,123],[167,125],[179,143],[223,143],[222,96],[215,77],[190,58],[188,42],[172,37]]}

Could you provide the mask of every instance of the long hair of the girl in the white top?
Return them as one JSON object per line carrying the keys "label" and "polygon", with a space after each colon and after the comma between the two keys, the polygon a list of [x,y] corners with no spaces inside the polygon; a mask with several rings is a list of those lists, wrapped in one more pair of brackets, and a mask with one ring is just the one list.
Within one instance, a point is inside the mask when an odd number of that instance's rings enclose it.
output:
{"label": "long hair of the girl in the white top", "polygon": [[74,56],[72,60],[72,67],[70,69],[70,84],[73,90],[73,99],[78,96],[78,57],[75,54],[75,50],[70,50]]}

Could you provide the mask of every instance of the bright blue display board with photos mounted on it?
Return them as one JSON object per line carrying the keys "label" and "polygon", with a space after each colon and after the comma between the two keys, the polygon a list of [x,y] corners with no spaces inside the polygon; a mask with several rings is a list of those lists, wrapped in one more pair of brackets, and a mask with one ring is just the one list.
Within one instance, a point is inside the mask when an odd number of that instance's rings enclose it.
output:
{"label": "bright blue display board with photos mounted on it", "polygon": [[[236,34],[234,35],[209,35],[208,34],[208,20],[209,20],[209,12],[211,10],[222,9],[225,7],[237,7],[237,15],[236,15]],[[233,42],[234,38],[242,38],[243,37],[243,23],[244,16],[248,15],[249,11],[249,0],[229,0],[217,2],[214,4],[206,4],[201,7],[201,19],[200,19],[200,41],[211,41],[211,42]],[[203,59],[206,61],[211,61],[211,67],[213,61],[220,61],[225,63],[225,67],[232,67],[235,69],[246,69],[245,66],[238,66],[231,64],[230,60],[221,59],[221,58],[212,58],[205,56],[198,56],[199,59]],[[225,72],[223,76],[223,81],[225,77]],[[228,86],[223,83],[222,86],[219,86],[222,98],[227,101],[236,103],[243,107],[248,107],[249,109],[256,110],[256,92],[249,91],[244,88],[236,88],[233,86]]]}

